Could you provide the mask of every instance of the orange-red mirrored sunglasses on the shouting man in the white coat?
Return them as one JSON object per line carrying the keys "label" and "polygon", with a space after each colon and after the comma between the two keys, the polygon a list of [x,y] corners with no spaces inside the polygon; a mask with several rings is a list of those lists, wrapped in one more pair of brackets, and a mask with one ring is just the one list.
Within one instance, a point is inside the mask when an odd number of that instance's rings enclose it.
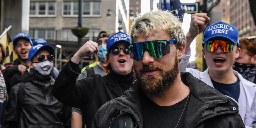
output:
{"label": "orange-red mirrored sunglasses on the shouting man in the white coat", "polygon": [[233,47],[235,45],[237,45],[237,44],[235,44],[233,42],[229,42],[229,41],[214,40],[214,41],[207,41],[205,43],[205,46],[206,46],[205,48],[207,51],[214,52],[220,46],[224,53],[228,53],[228,52],[233,51]]}

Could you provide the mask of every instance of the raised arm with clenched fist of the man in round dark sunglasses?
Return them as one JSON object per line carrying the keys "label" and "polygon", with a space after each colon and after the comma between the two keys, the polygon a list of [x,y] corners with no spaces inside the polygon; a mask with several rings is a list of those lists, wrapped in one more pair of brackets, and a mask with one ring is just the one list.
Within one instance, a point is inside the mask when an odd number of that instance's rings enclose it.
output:
{"label": "raised arm with clenched fist of the man in round dark sunglasses", "polygon": [[93,99],[95,79],[90,77],[76,81],[76,78],[81,73],[78,65],[80,59],[96,52],[97,46],[96,42],[87,41],[59,73],[54,82],[52,93],[60,102],[71,107],[81,108]]}

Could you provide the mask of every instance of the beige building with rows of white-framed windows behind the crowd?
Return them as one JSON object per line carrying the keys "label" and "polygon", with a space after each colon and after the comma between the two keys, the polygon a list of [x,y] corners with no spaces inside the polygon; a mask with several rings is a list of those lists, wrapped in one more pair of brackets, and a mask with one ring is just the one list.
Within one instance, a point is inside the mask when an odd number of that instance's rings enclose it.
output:
{"label": "beige building with rows of white-framed windows behind the crowd", "polygon": [[[120,31],[128,33],[129,0],[83,0],[82,14],[82,27],[89,29],[82,45],[88,40],[96,41],[102,30],[118,32],[121,28]],[[78,47],[78,38],[71,31],[78,26],[78,0],[30,0],[29,16],[32,39],[41,37],[53,46],[62,46],[61,50],[56,48],[62,52],[56,53],[61,69],[61,63],[70,59]],[[92,58],[84,60],[87,63]]]}

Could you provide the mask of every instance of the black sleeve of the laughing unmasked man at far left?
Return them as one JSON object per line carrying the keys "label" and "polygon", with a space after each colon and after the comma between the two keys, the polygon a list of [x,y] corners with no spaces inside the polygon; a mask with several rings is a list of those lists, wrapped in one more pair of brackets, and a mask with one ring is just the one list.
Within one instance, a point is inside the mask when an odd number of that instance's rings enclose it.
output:
{"label": "black sleeve of the laughing unmasked man at far left", "polygon": [[[18,73],[18,72],[19,72],[18,65],[7,67],[5,70],[2,71],[3,78],[5,79],[5,84],[6,84],[7,89],[9,88],[10,78],[15,73]],[[11,90],[11,88],[9,90]]]}

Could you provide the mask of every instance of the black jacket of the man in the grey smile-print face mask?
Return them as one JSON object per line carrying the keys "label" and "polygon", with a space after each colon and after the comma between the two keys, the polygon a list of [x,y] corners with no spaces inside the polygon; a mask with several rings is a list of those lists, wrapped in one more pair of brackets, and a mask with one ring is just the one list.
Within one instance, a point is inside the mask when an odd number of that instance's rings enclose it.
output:
{"label": "black jacket of the man in the grey smile-print face mask", "polygon": [[[54,79],[33,73],[15,85],[9,94],[6,109],[6,128],[71,127],[71,108],[59,102],[51,94]],[[24,85],[22,103],[19,98]]]}

